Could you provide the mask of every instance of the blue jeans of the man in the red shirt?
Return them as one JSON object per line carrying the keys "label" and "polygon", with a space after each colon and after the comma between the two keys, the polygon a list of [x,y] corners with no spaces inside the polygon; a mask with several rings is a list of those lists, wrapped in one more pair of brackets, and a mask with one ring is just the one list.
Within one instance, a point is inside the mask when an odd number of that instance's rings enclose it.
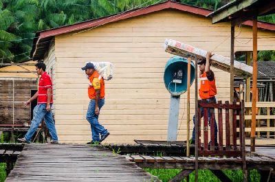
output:
{"label": "blue jeans of the man in the red shirt", "polygon": [[34,117],[30,124],[30,129],[28,130],[28,133],[25,134],[25,139],[28,142],[30,142],[30,139],[32,139],[32,136],[36,132],[37,128],[39,127],[39,124],[41,124],[43,119],[50,132],[52,139],[58,141],[58,137],[56,134],[56,126],[54,125],[54,118],[52,117],[52,111],[47,112],[46,106],[47,104],[37,104],[34,107]]}

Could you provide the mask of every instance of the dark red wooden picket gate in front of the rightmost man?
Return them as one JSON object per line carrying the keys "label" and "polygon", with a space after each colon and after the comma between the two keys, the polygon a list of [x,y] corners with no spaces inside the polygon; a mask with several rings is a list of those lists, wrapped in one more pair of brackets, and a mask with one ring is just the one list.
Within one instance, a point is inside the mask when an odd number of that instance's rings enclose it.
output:
{"label": "dark red wooden picket gate in front of the rightmost man", "polygon": [[[201,109],[203,109],[203,115],[201,115]],[[216,111],[215,111],[216,110]],[[223,119],[223,110],[225,112],[225,120]],[[232,112],[230,112],[232,111]],[[217,139],[219,139],[219,146],[214,146],[214,120],[215,114],[217,113]],[[237,115],[239,116],[239,123],[237,122]],[[244,103],[240,102],[240,104],[229,104],[228,101],[225,104],[222,104],[221,101],[218,103],[203,103],[199,102],[198,109],[198,123],[199,123],[199,155],[200,156],[209,156],[209,155],[219,155],[226,157],[243,157],[245,154],[245,137],[244,137]],[[201,117],[203,118],[203,122],[201,124]],[[230,117],[232,117],[232,136],[233,143],[230,144]],[[209,130],[210,124],[210,130]],[[201,127],[202,125],[202,127]],[[225,125],[225,128],[223,126]],[[237,133],[236,128],[241,128],[239,143],[241,144],[240,148],[237,148]],[[201,137],[201,128],[203,128],[203,137]],[[225,145],[223,139],[223,130],[225,130]],[[210,147],[208,146],[208,135],[210,133]],[[203,146],[201,145],[201,141],[203,139]],[[225,147],[225,149],[224,149]]]}

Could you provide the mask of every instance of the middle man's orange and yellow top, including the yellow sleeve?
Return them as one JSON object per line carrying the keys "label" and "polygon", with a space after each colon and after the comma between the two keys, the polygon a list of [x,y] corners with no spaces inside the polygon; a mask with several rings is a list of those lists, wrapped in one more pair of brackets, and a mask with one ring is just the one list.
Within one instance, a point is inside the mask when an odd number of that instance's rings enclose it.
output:
{"label": "middle man's orange and yellow top, including the yellow sleeve", "polygon": [[89,76],[88,95],[90,99],[96,99],[96,89],[100,89],[100,99],[105,97],[105,83],[98,71]]}

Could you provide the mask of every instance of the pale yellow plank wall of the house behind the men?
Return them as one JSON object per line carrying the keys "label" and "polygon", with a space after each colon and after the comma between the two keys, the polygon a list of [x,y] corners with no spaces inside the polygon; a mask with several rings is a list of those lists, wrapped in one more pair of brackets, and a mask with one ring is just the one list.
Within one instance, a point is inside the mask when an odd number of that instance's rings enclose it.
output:
{"label": "pale yellow plank wall of the house behind the men", "polygon": [[[163,74],[166,61],[173,56],[164,52],[166,38],[230,56],[229,23],[212,25],[211,19],[177,10],[163,10],[74,33],[55,39],[56,128],[60,141],[66,143],[91,140],[85,118],[88,80],[80,69],[85,62],[114,63],[114,78],[106,81],[100,123],[111,133],[105,142],[131,144],[133,139],[166,140],[170,94],[164,87]],[[275,49],[274,36],[274,32],[259,30],[259,49]],[[236,51],[251,51],[252,27],[236,27],[235,43]],[[212,70],[217,78],[217,99],[229,100],[230,74]],[[194,85],[191,91],[193,115]],[[181,95],[180,107],[177,139],[183,140],[186,94]]]}

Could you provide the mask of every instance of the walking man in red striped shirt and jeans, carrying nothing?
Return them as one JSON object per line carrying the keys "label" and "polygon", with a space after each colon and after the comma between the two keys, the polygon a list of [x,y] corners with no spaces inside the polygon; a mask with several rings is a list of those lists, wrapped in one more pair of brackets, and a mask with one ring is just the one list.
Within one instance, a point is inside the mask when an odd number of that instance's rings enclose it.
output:
{"label": "walking man in red striped shirt and jeans, carrying nothing", "polygon": [[39,124],[41,124],[42,120],[45,121],[45,124],[50,131],[50,135],[52,140],[51,144],[58,144],[58,137],[56,134],[56,127],[54,124],[54,118],[52,116],[52,80],[50,76],[47,74],[46,65],[43,62],[38,62],[36,65],[36,73],[41,75],[39,80],[39,91],[37,91],[30,100],[27,100],[24,104],[28,106],[30,102],[38,98],[38,104],[34,107],[34,117],[32,119],[30,129],[28,133],[26,133],[25,137],[17,139],[23,143],[30,143],[32,136],[36,132]]}

